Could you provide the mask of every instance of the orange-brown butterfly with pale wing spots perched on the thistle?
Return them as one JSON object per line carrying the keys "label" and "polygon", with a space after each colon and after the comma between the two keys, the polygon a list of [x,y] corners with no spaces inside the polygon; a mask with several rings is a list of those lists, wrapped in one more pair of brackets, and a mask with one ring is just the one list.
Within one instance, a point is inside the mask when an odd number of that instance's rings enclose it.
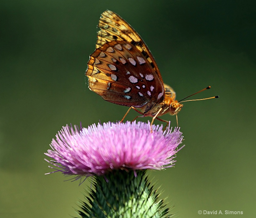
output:
{"label": "orange-brown butterfly with pale wing spots perched on the thistle", "polygon": [[168,125],[169,121],[159,118],[166,113],[176,115],[177,119],[183,105],[175,99],[175,91],[164,84],[156,61],[140,35],[109,10],[101,14],[98,27],[96,49],[90,55],[85,73],[89,89],[106,101],[129,106],[127,113],[132,108],[141,114],[137,117],[153,117],[151,126],[155,119]]}

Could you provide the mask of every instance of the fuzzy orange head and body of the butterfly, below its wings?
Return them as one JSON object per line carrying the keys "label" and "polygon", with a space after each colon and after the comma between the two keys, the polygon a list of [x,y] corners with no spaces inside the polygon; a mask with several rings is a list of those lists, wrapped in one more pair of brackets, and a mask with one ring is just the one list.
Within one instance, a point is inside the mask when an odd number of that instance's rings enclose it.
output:
{"label": "fuzzy orange head and body of the butterfly, below its wings", "polygon": [[[180,112],[181,108],[183,107],[177,100],[173,99],[172,97],[165,96],[164,100],[161,103],[156,103],[152,105],[150,108],[144,110],[144,116],[154,117],[156,113],[162,108],[158,116],[162,116],[166,113],[170,115],[176,115]],[[143,110],[144,108],[142,108]]]}

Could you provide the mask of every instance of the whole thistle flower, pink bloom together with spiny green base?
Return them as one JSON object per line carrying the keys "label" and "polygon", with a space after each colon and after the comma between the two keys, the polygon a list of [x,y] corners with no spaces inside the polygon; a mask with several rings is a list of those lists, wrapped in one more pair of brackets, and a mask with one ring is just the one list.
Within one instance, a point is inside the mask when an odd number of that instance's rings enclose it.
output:
{"label": "whole thistle flower, pink bloom together with spiny green base", "polygon": [[151,133],[150,123],[134,121],[59,131],[45,153],[54,159],[46,160],[51,168],[75,179],[95,178],[88,203],[80,202],[80,217],[169,217],[145,170],[172,167],[183,136],[178,128],[152,128]]}

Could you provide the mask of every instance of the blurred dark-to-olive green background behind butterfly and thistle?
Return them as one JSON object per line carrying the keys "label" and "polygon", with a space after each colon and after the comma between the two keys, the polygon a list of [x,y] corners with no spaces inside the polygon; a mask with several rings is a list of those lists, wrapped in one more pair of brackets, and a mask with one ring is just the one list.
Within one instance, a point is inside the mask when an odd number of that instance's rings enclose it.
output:
{"label": "blurred dark-to-olive green background behind butterfly and thistle", "polygon": [[255,217],[256,3],[246,0],[1,1],[0,217],[76,216],[89,180],[44,175],[44,152],[62,126],[120,120],[128,109],[89,91],[84,76],[106,9],[142,36],[178,100],[208,85],[194,97],[220,96],[184,103],[186,146],[175,168],[150,174],[161,197],[179,217]]}

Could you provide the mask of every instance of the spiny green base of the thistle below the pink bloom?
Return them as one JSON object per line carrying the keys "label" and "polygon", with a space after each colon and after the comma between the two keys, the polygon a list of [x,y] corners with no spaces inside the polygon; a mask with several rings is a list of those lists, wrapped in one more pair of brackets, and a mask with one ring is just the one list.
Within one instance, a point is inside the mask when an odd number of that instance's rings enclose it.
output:
{"label": "spiny green base of the thistle below the pink bloom", "polygon": [[[78,214],[82,218],[106,217],[170,217],[169,208],[164,209],[163,200],[158,200],[156,191],[150,186],[146,171],[112,171],[103,176],[95,176],[93,188],[87,200],[81,202]],[[107,181],[108,180],[108,181]]]}

